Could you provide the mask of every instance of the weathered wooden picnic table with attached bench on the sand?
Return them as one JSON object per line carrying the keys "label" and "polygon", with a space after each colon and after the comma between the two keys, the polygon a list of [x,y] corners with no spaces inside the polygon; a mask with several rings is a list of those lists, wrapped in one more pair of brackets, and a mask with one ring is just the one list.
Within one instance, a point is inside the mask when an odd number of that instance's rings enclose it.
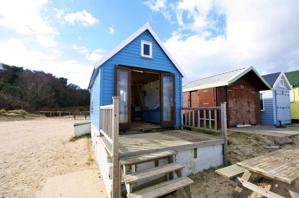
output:
{"label": "weathered wooden picnic table with attached bench on the sand", "polygon": [[[234,179],[233,181],[238,183],[238,186],[232,194],[235,198],[240,196],[244,187],[258,192],[265,197],[282,198],[283,196],[272,192],[277,182],[286,184],[292,198],[299,198],[298,189],[295,186],[295,182],[299,179],[299,148],[280,149],[266,155],[238,162],[233,166],[235,167],[229,168],[230,171],[225,167],[217,170],[218,172],[216,171],[216,173],[226,178],[229,178],[227,177],[228,175],[233,175],[229,179]],[[238,173],[240,175],[240,170],[242,169],[244,171],[242,177],[237,177],[237,172],[239,171]],[[235,175],[232,173],[235,173]],[[270,179],[270,189],[267,190],[249,182],[248,180],[252,174],[258,174]]]}

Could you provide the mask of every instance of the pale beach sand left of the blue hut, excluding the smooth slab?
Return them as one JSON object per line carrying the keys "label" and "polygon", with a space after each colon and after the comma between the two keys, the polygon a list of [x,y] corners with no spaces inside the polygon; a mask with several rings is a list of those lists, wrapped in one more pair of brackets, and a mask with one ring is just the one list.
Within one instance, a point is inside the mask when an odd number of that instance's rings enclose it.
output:
{"label": "pale beach sand left of the blue hut, excluding the smooth slab", "polygon": [[102,177],[97,174],[100,172],[97,163],[87,161],[89,157],[95,158],[91,138],[68,141],[74,133],[73,124],[78,121],[41,117],[3,120],[1,116],[0,197],[40,197],[48,178],[86,170],[93,171],[96,175],[93,182],[103,189],[97,197],[107,197]]}

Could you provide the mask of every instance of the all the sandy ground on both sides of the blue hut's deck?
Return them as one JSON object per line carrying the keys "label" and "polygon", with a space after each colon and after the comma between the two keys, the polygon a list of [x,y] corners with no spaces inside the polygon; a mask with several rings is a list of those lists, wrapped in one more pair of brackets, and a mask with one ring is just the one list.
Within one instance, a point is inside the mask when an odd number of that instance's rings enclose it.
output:
{"label": "all the sandy ground on both sides of the blue hut's deck", "polygon": [[[74,133],[73,124],[80,121],[43,117],[29,118],[34,120],[14,119],[17,121],[5,121],[0,116],[0,198],[107,197],[97,162],[87,161],[89,157],[95,158],[91,139],[84,137],[68,142]],[[236,132],[229,132],[228,136],[231,164],[268,153],[266,142],[275,138]],[[291,139],[295,144],[287,146],[298,147],[298,137]],[[194,197],[232,197],[236,184],[214,172],[222,167],[190,176],[194,181]],[[254,176],[249,181],[269,189],[267,179]],[[274,192],[290,197],[281,183],[278,183]],[[187,195],[180,189],[165,197],[183,198]],[[241,197],[262,196],[244,190]]]}

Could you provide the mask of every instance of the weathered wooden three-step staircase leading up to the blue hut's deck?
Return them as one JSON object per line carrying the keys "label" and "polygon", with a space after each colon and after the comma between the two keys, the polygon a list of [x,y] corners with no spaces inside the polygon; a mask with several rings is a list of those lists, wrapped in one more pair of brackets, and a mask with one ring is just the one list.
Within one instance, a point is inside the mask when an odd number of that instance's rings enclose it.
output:
{"label": "weathered wooden three-step staircase leading up to the blue hut's deck", "polygon": [[[122,177],[126,184],[127,198],[155,198],[180,188],[184,188],[187,196],[193,198],[191,185],[194,182],[190,178],[183,176],[183,168],[185,166],[175,162],[175,154],[176,152],[174,151],[162,151],[120,159],[124,173]],[[164,158],[168,158],[168,164],[159,166],[159,160]],[[132,166],[135,165],[136,167],[136,164],[151,161],[154,161],[155,167],[132,172]],[[178,178],[174,178],[174,173]],[[150,180],[150,178],[159,175],[162,177],[137,185],[139,181]],[[134,183],[135,187],[132,188],[132,184]]]}

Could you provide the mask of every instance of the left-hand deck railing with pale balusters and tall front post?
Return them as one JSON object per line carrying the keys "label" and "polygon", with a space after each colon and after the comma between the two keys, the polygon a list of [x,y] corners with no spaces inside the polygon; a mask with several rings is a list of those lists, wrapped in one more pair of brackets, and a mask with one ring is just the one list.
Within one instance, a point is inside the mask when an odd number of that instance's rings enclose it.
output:
{"label": "left-hand deck railing with pale balusters and tall front post", "polygon": [[120,97],[112,97],[113,104],[100,106],[100,136],[104,136],[112,144],[112,197],[121,197],[121,166],[119,163],[119,101]]}

